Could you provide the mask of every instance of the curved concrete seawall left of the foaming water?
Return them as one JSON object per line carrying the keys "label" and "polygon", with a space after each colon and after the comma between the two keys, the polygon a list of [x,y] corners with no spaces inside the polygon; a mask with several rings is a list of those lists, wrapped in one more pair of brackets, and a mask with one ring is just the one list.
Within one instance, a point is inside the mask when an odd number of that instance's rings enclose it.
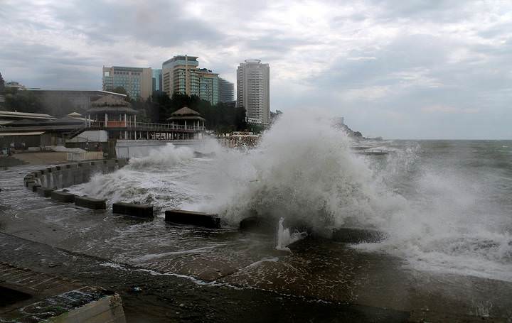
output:
{"label": "curved concrete seawall left of the foaming water", "polygon": [[30,184],[33,181],[36,185],[41,185],[43,189],[58,190],[88,182],[92,175],[97,173],[112,173],[127,163],[126,158],[121,158],[58,165],[29,173],[24,181]]}

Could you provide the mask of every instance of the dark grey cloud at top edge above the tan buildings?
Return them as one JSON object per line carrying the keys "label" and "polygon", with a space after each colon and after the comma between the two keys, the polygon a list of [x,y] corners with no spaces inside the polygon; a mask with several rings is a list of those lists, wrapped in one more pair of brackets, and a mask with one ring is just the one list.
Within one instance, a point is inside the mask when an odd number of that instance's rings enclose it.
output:
{"label": "dark grey cloud at top edge above the tan buildings", "polygon": [[118,42],[134,38],[155,46],[181,45],[191,40],[223,40],[206,20],[188,18],[181,1],[124,2],[94,0],[75,2],[70,10],[52,6],[55,18],[92,41]]}

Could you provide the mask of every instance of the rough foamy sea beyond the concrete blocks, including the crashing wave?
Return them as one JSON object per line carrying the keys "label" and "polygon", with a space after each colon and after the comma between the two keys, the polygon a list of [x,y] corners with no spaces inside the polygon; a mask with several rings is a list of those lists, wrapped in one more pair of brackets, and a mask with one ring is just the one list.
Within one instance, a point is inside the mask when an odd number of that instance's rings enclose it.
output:
{"label": "rough foamy sea beyond the concrete blocks, including the crashing wave", "polygon": [[215,212],[230,226],[256,214],[276,228],[284,217],[319,232],[377,229],[385,241],[353,248],[418,270],[512,281],[512,141],[368,141],[389,153],[361,155],[329,115],[315,115],[282,116],[252,150],[212,140],[215,157],[194,158],[168,145],[72,190]]}

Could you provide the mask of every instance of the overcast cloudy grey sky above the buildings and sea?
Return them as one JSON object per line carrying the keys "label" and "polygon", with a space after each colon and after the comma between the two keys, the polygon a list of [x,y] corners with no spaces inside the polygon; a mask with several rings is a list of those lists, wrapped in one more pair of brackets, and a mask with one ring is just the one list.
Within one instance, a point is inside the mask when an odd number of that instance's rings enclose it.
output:
{"label": "overcast cloudy grey sky above the buildings and sea", "polygon": [[270,109],[365,136],[512,139],[512,1],[0,0],[4,80],[101,89],[102,66],[174,55],[236,82],[270,64]]}

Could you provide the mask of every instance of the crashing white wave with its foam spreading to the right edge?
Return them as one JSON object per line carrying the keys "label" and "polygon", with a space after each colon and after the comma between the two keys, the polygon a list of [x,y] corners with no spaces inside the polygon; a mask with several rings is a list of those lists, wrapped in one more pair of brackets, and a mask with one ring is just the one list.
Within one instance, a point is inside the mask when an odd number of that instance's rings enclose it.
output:
{"label": "crashing white wave with its foam spreading to the right edge", "polygon": [[388,239],[354,247],[421,270],[512,281],[512,218],[489,202],[491,189],[471,170],[449,161],[425,165],[420,153],[416,143],[375,162],[354,154],[328,117],[287,114],[257,150],[213,160],[213,172],[201,173],[213,197],[196,207],[233,225],[256,214],[319,232],[377,229]]}

